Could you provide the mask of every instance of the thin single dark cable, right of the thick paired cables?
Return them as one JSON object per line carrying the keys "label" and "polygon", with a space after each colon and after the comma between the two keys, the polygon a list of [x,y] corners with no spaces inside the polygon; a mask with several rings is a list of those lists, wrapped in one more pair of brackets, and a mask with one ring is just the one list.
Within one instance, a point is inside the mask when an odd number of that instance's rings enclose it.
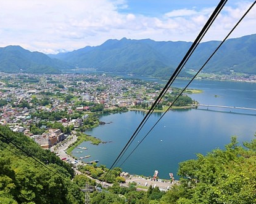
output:
{"label": "thin single dark cable, right of the thick paired cables", "polygon": [[162,114],[162,116],[159,118],[159,120],[157,120],[157,122],[155,122],[155,124],[152,126],[152,128],[147,132],[147,134],[141,139],[141,141],[139,141],[139,143],[136,145],[136,147],[134,147],[133,151],[130,152],[130,154],[126,157],[125,160],[123,160],[123,162],[121,163],[121,165],[119,167],[122,167],[123,163],[126,162],[126,160],[131,156],[131,154],[133,154],[133,152],[138,148],[139,144],[142,143],[142,141],[144,141],[144,139],[147,137],[147,135],[149,135],[149,133],[151,133],[151,131],[154,129],[154,127],[159,123],[159,121],[162,119],[163,116],[165,116],[165,114],[167,113],[167,111],[171,108],[171,106],[176,102],[176,100],[178,100],[178,98],[182,95],[182,93],[184,92],[184,90],[186,90],[186,88],[188,88],[188,86],[191,84],[192,80],[194,80],[197,75],[200,73],[200,71],[202,71],[202,69],[204,68],[205,65],[207,65],[207,63],[210,61],[210,59],[213,57],[213,55],[215,55],[215,53],[218,51],[218,49],[220,49],[221,45],[223,45],[223,43],[226,41],[226,39],[228,39],[228,37],[230,36],[231,33],[233,33],[234,29],[236,29],[236,27],[239,25],[239,23],[241,23],[241,21],[244,19],[244,17],[246,17],[246,15],[248,14],[248,12],[252,9],[252,7],[254,7],[256,3],[256,0],[252,3],[252,5],[249,7],[249,9],[247,9],[247,11],[244,13],[244,15],[242,15],[242,17],[239,19],[239,21],[236,23],[236,25],[234,25],[234,27],[231,29],[231,31],[229,31],[229,33],[226,35],[226,37],[223,39],[223,41],[221,41],[220,45],[218,45],[217,49],[215,49],[215,51],[212,53],[212,55],[210,55],[210,57],[205,61],[204,65],[202,65],[202,67],[197,71],[197,73],[194,75],[194,77],[192,77],[192,79],[189,81],[189,83],[186,85],[186,87],[183,88],[183,90],[181,91],[181,93],[175,98],[175,100],[173,101],[173,103],[171,103],[171,105],[168,107],[168,109]]}

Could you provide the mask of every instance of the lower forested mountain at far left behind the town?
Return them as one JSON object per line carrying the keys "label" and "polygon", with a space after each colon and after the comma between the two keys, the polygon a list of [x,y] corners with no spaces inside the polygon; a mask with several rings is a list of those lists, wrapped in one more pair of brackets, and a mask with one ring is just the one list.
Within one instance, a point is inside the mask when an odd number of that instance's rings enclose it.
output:
{"label": "lower forested mountain at far left behind the town", "polygon": [[0,71],[5,73],[59,74],[67,63],[40,52],[30,52],[19,45],[0,48]]}

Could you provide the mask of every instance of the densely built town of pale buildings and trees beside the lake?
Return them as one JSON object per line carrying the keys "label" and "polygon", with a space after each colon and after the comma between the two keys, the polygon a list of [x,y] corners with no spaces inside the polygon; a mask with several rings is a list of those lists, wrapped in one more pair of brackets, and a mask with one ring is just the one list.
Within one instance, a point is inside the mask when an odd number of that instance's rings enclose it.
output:
{"label": "densely built town of pale buildings and trees beside the lake", "polygon": [[[82,132],[99,125],[96,113],[149,108],[160,88],[157,82],[106,74],[1,73],[0,124],[49,149],[74,129]],[[171,103],[171,92],[176,90],[169,92],[170,97],[158,109]],[[192,100],[184,95],[183,102],[178,106],[191,104]]]}

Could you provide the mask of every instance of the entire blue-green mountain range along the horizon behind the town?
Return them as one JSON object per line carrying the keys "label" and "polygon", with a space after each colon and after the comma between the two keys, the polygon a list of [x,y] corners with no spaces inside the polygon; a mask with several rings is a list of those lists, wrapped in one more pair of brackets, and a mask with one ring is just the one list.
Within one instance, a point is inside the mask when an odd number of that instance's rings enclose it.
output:
{"label": "entire blue-green mountain range along the horizon behind the town", "polygon": [[[237,73],[256,74],[255,42],[256,34],[228,39],[205,66],[204,72],[229,74],[232,69]],[[61,73],[76,67],[163,77],[178,66],[191,44],[151,39],[110,39],[102,45],[48,56],[20,46],[7,46],[0,48],[0,71]],[[200,43],[186,63],[186,69],[200,68],[219,44],[220,41]]]}

